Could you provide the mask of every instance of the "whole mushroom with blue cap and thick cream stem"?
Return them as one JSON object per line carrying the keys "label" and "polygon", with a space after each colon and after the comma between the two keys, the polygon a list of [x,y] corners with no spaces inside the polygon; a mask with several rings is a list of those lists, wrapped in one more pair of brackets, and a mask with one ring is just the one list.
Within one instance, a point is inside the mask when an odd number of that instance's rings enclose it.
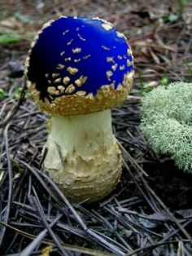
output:
{"label": "whole mushroom with blue cap and thick cream stem", "polygon": [[120,180],[111,109],[131,90],[129,44],[106,20],[61,16],[37,33],[26,60],[28,88],[51,117],[43,169],[72,201],[96,201]]}

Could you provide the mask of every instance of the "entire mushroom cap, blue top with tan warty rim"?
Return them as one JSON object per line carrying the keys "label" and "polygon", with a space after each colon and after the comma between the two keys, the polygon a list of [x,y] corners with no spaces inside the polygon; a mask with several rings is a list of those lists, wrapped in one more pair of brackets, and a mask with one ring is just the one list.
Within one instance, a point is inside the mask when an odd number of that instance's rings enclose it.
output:
{"label": "entire mushroom cap, blue top with tan warty rim", "polygon": [[106,20],[61,16],[37,33],[26,60],[28,88],[55,116],[95,113],[122,102],[133,82],[133,55]]}

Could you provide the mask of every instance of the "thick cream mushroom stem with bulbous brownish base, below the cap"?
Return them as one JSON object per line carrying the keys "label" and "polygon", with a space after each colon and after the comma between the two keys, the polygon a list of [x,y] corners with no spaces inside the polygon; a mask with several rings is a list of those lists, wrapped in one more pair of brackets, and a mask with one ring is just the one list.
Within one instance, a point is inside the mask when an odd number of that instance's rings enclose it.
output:
{"label": "thick cream mushroom stem with bulbous brownish base, below the cap", "polygon": [[72,201],[98,200],[120,179],[122,162],[111,110],[52,117],[45,148],[44,170]]}

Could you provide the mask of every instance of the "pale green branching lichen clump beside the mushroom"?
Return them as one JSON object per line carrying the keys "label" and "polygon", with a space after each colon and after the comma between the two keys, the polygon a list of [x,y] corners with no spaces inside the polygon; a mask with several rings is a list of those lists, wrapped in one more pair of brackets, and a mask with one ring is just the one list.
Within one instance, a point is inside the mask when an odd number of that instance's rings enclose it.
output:
{"label": "pale green branching lichen clump beside the mushroom", "polygon": [[142,100],[143,135],[157,153],[192,173],[192,83],[175,82],[151,90]]}

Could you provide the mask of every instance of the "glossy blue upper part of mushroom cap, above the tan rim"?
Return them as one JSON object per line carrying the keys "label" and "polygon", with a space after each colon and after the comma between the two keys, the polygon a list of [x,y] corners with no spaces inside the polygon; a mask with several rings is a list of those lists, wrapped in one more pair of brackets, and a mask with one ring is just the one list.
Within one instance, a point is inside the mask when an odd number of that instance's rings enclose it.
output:
{"label": "glossy blue upper part of mushroom cap, above the tan rim", "polygon": [[[133,71],[129,44],[110,23],[98,18],[60,17],[38,34],[28,59],[28,81],[51,103],[63,95],[85,91],[97,95],[114,89]],[[49,87],[58,91],[50,95]],[[62,89],[63,88],[63,89]]]}

